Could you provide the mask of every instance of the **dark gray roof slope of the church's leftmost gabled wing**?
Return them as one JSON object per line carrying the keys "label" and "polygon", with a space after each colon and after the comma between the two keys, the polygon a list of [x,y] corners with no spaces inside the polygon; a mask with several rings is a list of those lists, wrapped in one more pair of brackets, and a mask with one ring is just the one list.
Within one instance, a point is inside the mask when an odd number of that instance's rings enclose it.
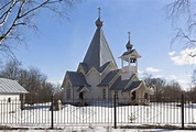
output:
{"label": "dark gray roof slope of the church's leftmost gabled wing", "polygon": [[90,86],[87,84],[85,76],[81,73],[67,72],[67,75],[68,75],[73,86],[87,86],[87,87]]}

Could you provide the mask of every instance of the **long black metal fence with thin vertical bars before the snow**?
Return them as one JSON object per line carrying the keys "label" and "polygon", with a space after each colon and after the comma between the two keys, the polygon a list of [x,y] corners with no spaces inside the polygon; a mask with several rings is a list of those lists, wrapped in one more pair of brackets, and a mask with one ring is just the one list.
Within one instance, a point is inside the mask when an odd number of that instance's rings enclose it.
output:
{"label": "long black metal fence with thin vertical bars before the snow", "polygon": [[40,100],[40,103],[25,103],[23,107],[19,100],[0,100],[0,125],[37,128],[112,125],[117,128],[132,124],[176,124],[184,128],[196,123],[196,103],[193,98],[184,98],[184,96],[175,99],[162,98],[160,102],[151,98],[148,106],[133,106],[129,99],[117,98],[67,100],[69,103],[62,106],[53,97],[51,100],[53,101]]}

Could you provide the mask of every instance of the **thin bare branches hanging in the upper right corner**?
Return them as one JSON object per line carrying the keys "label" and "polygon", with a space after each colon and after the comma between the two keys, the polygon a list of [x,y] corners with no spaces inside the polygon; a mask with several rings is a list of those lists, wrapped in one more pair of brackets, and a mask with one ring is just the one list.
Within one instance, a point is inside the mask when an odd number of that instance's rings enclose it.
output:
{"label": "thin bare branches hanging in the upper right corner", "polygon": [[[196,1],[174,0],[166,6],[168,19],[175,28],[175,35],[172,42],[182,43],[185,47],[196,47]],[[195,56],[192,54],[190,56]]]}

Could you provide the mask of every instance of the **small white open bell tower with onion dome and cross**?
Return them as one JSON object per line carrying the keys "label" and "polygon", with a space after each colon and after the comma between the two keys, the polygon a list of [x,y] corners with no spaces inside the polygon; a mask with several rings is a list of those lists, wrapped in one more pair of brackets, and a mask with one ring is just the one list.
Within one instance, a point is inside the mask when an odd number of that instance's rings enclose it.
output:
{"label": "small white open bell tower with onion dome and cross", "polygon": [[129,79],[133,74],[138,74],[138,58],[141,56],[135,50],[132,48],[130,43],[130,32],[128,32],[128,43],[126,44],[127,52],[124,52],[119,58],[121,58],[121,79]]}

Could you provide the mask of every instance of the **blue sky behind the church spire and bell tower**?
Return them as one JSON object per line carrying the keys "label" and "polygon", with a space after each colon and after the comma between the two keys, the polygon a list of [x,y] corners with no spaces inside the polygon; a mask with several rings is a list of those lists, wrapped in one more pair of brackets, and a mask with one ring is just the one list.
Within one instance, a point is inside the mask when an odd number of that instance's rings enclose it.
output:
{"label": "blue sky behind the church spire and bell tower", "polygon": [[[29,32],[26,46],[14,51],[24,67],[35,66],[47,75],[48,80],[62,82],[66,70],[76,70],[83,61],[96,31],[97,8],[101,8],[102,30],[120,67],[118,58],[128,42],[142,56],[139,59],[140,76],[177,80],[183,88],[189,87],[193,62],[187,61],[182,45],[171,40],[173,28],[166,20],[165,4],[172,0],[86,0],[68,11],[67,20],[61,21],[47,12],[36,18],[40,31]],[[184,58],[186,59],[184,62]]]}

